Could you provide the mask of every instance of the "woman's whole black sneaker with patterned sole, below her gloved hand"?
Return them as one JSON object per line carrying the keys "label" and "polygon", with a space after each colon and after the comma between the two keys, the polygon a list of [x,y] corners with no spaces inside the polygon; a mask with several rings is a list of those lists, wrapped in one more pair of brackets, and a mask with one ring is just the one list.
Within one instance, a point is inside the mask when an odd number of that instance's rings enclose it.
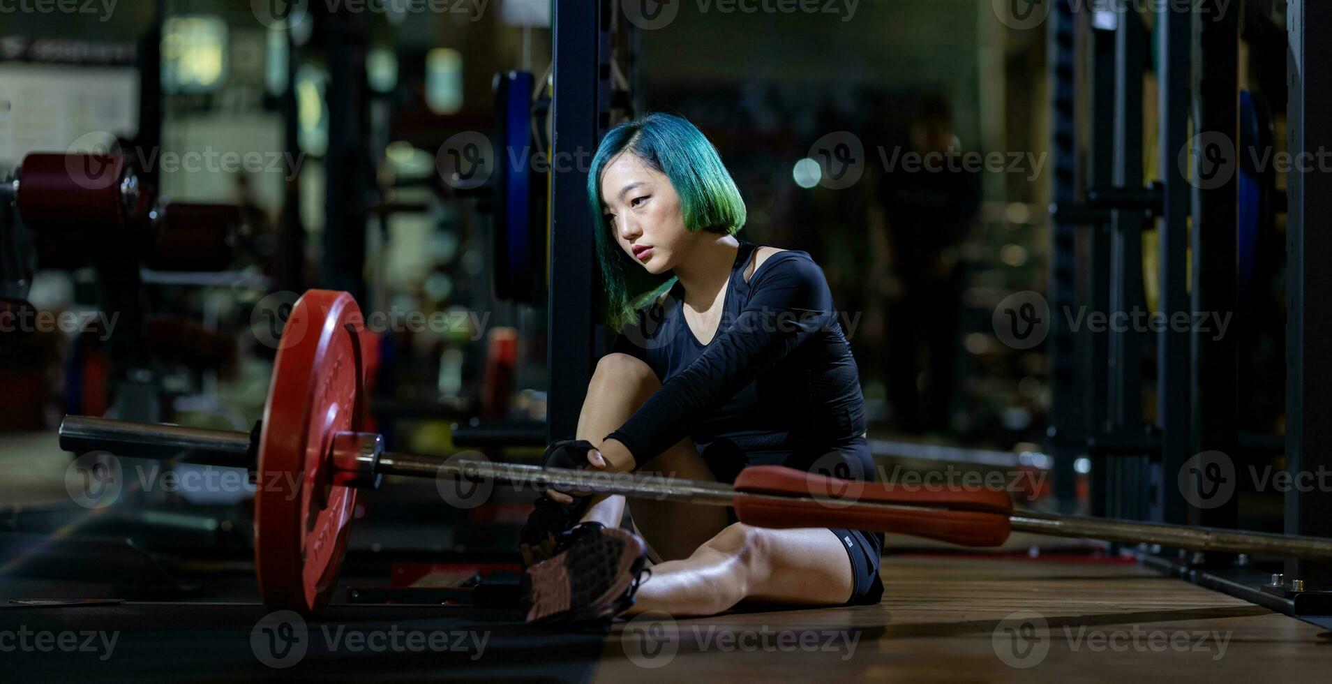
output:
{"label": "woman's whole black sneaker with patterned sole, below her gloved hand", "polygon": [[647,561],[637,535],[601,523],[567,533],[567,548],[522,575],[529,623],[583,623],[614,617],[631,605]]}

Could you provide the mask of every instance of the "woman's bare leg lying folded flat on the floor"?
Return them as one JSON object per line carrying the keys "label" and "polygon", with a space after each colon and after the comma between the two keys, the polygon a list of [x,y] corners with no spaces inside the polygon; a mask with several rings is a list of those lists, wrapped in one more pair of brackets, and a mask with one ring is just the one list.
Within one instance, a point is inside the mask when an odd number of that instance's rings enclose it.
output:
{"label": "woman's bare leg lying folded flat on the floor", "polygon": [[836,605],[854,589],[851,560],[832,531],[735,523],[687,559],[653,565],[626,615],[715,615],[742,600]]}

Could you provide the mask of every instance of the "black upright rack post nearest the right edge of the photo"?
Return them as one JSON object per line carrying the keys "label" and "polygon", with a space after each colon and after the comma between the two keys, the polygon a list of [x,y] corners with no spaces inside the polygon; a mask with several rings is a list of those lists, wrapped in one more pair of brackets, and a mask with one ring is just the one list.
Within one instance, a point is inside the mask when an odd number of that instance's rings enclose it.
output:
{"label": "black upright rack post nearest the right edge of the photo", "polygon": [[[1332,149],[1332,3],[1291,0],[1289,108],[1287,127],[1292,159]],[[1312,159],[1304,164],[1312,164]],[[1285,336],[1285,463],[1292,475],[1317,476],[1332,468],[1332,175],[1295,164],[1287,185],[1287,336]],[[1309,475],[1305,475],[1308,477]],[[1305,480],[1308,481],[1308,480]],[[1315,483],[1320,480],[1313,480]],[[1285,533],[1332,537],[1332,492],[1313,487],[1285,493]],[[1288,560],[1287,576],[1332,585],[1325,563]]]}

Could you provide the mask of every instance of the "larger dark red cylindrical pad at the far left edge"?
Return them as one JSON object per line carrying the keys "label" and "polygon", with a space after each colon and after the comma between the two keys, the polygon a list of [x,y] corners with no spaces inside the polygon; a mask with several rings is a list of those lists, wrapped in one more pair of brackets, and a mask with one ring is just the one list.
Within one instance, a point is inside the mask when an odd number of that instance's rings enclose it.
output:
{"label": "larger dark red cylindrical pad at the far left edge", "polygon": [[125,208],[120,155],[32,153],[23,157],[15,204],[33,229],[119,227]]}

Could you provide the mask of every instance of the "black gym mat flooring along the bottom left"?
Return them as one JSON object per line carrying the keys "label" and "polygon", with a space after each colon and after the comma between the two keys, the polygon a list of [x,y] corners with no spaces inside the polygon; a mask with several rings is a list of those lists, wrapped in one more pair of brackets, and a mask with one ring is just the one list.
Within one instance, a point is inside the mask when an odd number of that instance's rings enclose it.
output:
{"label": "black gym mat flooring along the bottom left", "polygon": [[0,607],[0,679],[587,681],[607,631],[474,607],[334,605],[309,621],[258,604]]}

